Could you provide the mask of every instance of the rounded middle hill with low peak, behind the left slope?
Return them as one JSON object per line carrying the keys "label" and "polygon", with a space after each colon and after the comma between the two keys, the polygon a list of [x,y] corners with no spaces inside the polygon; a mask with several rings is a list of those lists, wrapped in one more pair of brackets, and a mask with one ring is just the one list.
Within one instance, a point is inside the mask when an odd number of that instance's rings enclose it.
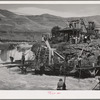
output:
{"label": "rounded middle hill with low peak, behind the left slope", "polygon": [[32,21],[37,22],[40,25],[44,25],[51,29],[53,26],[60,26],[60,27],[66,27],[67,19],[49,15],[49,14],[42,14],[42,15],[35,15],[35,16],[27,16]]}

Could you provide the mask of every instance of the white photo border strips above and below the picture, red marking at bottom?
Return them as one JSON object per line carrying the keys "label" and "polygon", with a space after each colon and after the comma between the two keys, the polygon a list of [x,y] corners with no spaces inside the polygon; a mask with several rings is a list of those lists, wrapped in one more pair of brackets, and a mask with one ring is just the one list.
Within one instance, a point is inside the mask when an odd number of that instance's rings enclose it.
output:
{"label": "white photo border strips above and below the picture, red marking at bottom", "polygon": [[[100,4],[100,1],[0,1],[0,4]],[[0,90],[0,99],[100,99],[100,91]]]}

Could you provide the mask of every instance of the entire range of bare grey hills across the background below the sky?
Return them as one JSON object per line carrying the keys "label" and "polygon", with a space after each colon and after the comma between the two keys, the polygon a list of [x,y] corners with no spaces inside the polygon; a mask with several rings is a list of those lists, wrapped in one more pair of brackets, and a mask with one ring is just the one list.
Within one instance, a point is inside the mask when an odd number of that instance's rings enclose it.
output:
{"label": "entire range of bare grey hills across the background below the sky", "polygon": [[[38,38],[41,33],[50,33],[54,26],[66,27],[67,21],[71,19],[79,19],[79,17],[63,18],[49,14],[24,16],[0,9],[0,37],[8,39],[33,39],[35,34],[35,37]],[[84,17],[83,19],[85,23],[92,20],[96,23],[97,27],[100,26],[99,15]],[[26,34],[27,32],[30,34]]]}

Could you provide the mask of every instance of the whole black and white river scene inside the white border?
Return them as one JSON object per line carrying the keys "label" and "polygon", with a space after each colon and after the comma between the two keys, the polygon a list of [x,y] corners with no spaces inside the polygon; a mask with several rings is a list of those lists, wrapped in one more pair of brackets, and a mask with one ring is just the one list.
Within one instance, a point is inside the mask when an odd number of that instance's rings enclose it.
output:
{"label": "whole black and white river scene inside the white border", "polygon": [[0,4],[0,90],[100,90],[100,4]]}

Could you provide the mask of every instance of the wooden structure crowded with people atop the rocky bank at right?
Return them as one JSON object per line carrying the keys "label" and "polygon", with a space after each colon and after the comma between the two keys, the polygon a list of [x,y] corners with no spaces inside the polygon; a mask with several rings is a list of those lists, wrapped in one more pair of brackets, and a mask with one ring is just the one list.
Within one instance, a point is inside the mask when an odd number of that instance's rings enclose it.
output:
{"label": "wooden structure crowded with people atop the rocky bank at right", "polygon": [[88,40],[91,39],[91,36],[97,38],[99,30],[96,28],[94,22],[89,21],[86,25],[83,19],[79,19],[68,21],[68,26],[60,29],[59,32],[64,42],[80,43],[85,36]]}

